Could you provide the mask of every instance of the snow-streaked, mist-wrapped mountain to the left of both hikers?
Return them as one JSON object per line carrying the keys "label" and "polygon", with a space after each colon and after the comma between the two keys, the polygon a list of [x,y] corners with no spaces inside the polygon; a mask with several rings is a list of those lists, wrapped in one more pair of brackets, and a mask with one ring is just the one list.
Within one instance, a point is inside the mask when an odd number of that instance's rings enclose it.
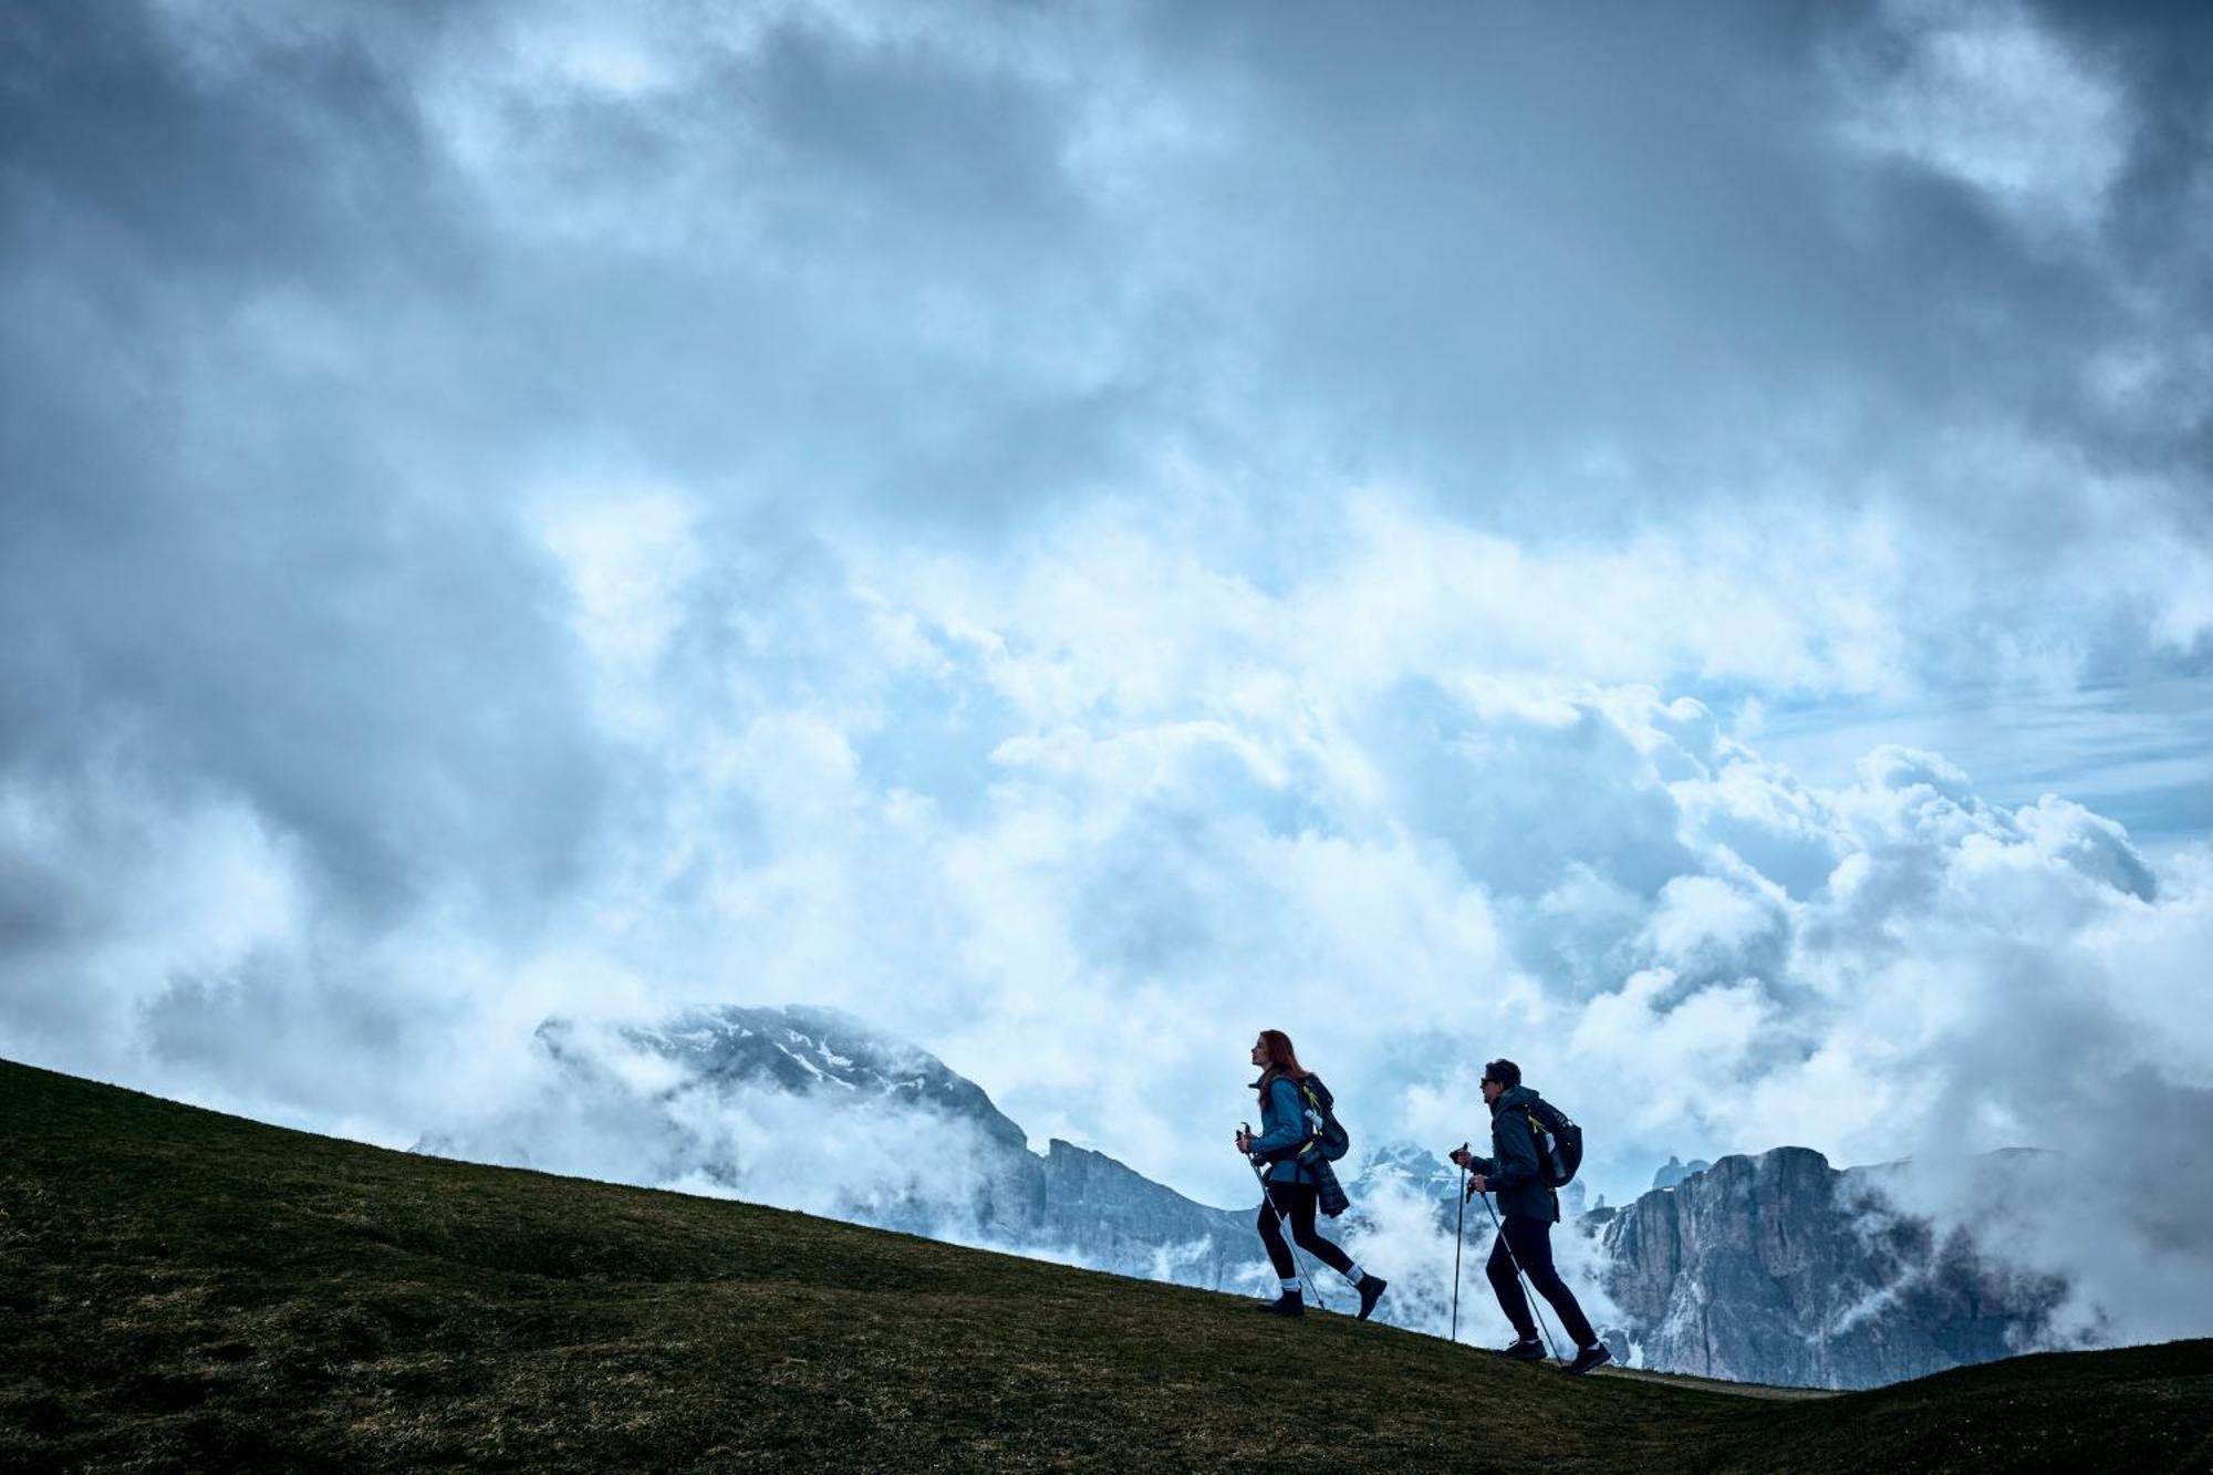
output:
{"label": "snow-streaked, mist-wrapped mountain to the left of both hikers", "polygon": [[418,1152],[677,1187],[1126,1276],[1248,1278],[1250,1211],[1197,1205],[1064,1141],[1042,1154],[974,1081],[823,1008],[538,1028],[524,1101]]}

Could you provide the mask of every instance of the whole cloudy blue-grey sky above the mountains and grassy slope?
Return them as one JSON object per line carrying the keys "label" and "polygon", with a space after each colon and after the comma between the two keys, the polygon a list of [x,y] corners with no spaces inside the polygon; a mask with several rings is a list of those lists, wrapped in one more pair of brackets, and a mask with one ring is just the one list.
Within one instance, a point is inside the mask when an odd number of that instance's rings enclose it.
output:
{"label": "whole cloudy blue-grey sky above the mountains and grassy slope", "polygon": [[2209,97],[2149,4],[11,7],[0,1054],[405,1145],[821,1003],[1211,1203],[1257,1028],[1436,1149],[1505,1054],[1615,1200],[2049,1147],[2204,1333]]}

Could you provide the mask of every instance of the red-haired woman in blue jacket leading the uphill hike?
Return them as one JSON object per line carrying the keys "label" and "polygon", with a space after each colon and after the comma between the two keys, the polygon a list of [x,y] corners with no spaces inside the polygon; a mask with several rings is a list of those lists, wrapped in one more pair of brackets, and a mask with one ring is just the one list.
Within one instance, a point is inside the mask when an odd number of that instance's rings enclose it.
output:
{"label": "red-haired woman in blue jacket leading the uphill hike", "polygon": [[1250,1127],[1239,1127],[1237,1152],[1253,1158],[1253,1167],[1259,1172],[1259,1238],[1268,1247],[1268,1260],[1275,1265],[1277,1280],[1284,1282],[1284,1293],[1270,1302],[1261,1302],[1259,1309],[1272,1316],[1306,1316],[1299,1267],[1292,1260],[1290,1245],[1284,1242],[1284,1220],[1290,1220],[1290,1238],[1299,1242],[1299,1249],[1359,1289],[1361,1320],[1365,1322],[1368,1313],[1383,1300],[1388,1282],[1381,1276],[1363,1271],[1352,1262],[1352,1256],[1321,1238],[1315,1229],[1315,1207],[1323,1194],[1332,1198],[1328,1205],[1332,1216],[1343,1211],[1343,1189],[1337,1187],[1334,1169],[1330,1169],[1328,1158],[1317,1149],[1328,1096],[1321,1096],[1319,1107],[1310,1116],[1308,1103],[1301,1101],[1301,1087],[1306,1087],[1312,1072],[1299,1065],[1299,1056],[1290,1048],[1290,1036],[1281,1030],[1259,1032],[1259,1039],[1253,1041],[1253,1063],[1261,1067],[1259,1081],[1253,1083],[1253,1090],[1259,1092],[1259,1134],[1255,1136]]}

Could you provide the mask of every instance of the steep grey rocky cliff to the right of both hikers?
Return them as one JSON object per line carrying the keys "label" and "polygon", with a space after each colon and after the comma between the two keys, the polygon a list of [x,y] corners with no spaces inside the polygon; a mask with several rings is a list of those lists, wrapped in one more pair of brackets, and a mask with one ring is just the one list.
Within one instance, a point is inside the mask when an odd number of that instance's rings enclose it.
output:
{"label": "steep grey rocky cliff to the right of both hikers", "polygon": [[1704,1378],[1921,1378],[2036,1344],[2065,1291],[1894,1214],[1881,1169],[1839,1172],[1806,1147],[1722,1158],[1596,1229],[1627,1318],[1618,1340]]}

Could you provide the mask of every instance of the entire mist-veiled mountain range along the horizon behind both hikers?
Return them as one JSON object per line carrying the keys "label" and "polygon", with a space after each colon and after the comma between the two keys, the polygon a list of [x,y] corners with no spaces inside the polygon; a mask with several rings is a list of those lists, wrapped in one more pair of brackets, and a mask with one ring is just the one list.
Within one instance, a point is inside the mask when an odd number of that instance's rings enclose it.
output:
{"label": "entire mist-veiled mountain range along the horizon behind both hikers", "polygon": [[[1195,1203],[1022,1127],[927,1050],[823,1008],[699,1008],[657,1023],[551,1019],[533,1092],[427,1132],[418,1152],[806,1209],[1224,1291],[1268,1278],[1253,1207]],[[1348,1103],[1357,1110],[1357,1103]],[[1357,1118],[1354,1118],[1357,1121]],[[2036,1154],[1978,1158],[2009,1180]],[[1392,1280],[1379,1316],[1443,1333],[1461,1176],[1425,1147],[1354,1143],[1330,1227]],[[2005,1265],[1974,1227],[1903,1207],[1910,1165],[1832,1169],[1804,1147],[1660,1169],[1631,1205],[1576,1214],[1560,1262],[1615,1353],[1748,1382],[1874,1386],[2036,1347],[2065,1280]],[[1257,1200],[1257,1192],[1255,1192]],[[1467,1209],[1461,1327],[1496,1318],[1487,1214]],[[1321,1271],[1321,1293],[1337,1282]],[[1339,1302],[1343,1304],[1343,1302]]]}

